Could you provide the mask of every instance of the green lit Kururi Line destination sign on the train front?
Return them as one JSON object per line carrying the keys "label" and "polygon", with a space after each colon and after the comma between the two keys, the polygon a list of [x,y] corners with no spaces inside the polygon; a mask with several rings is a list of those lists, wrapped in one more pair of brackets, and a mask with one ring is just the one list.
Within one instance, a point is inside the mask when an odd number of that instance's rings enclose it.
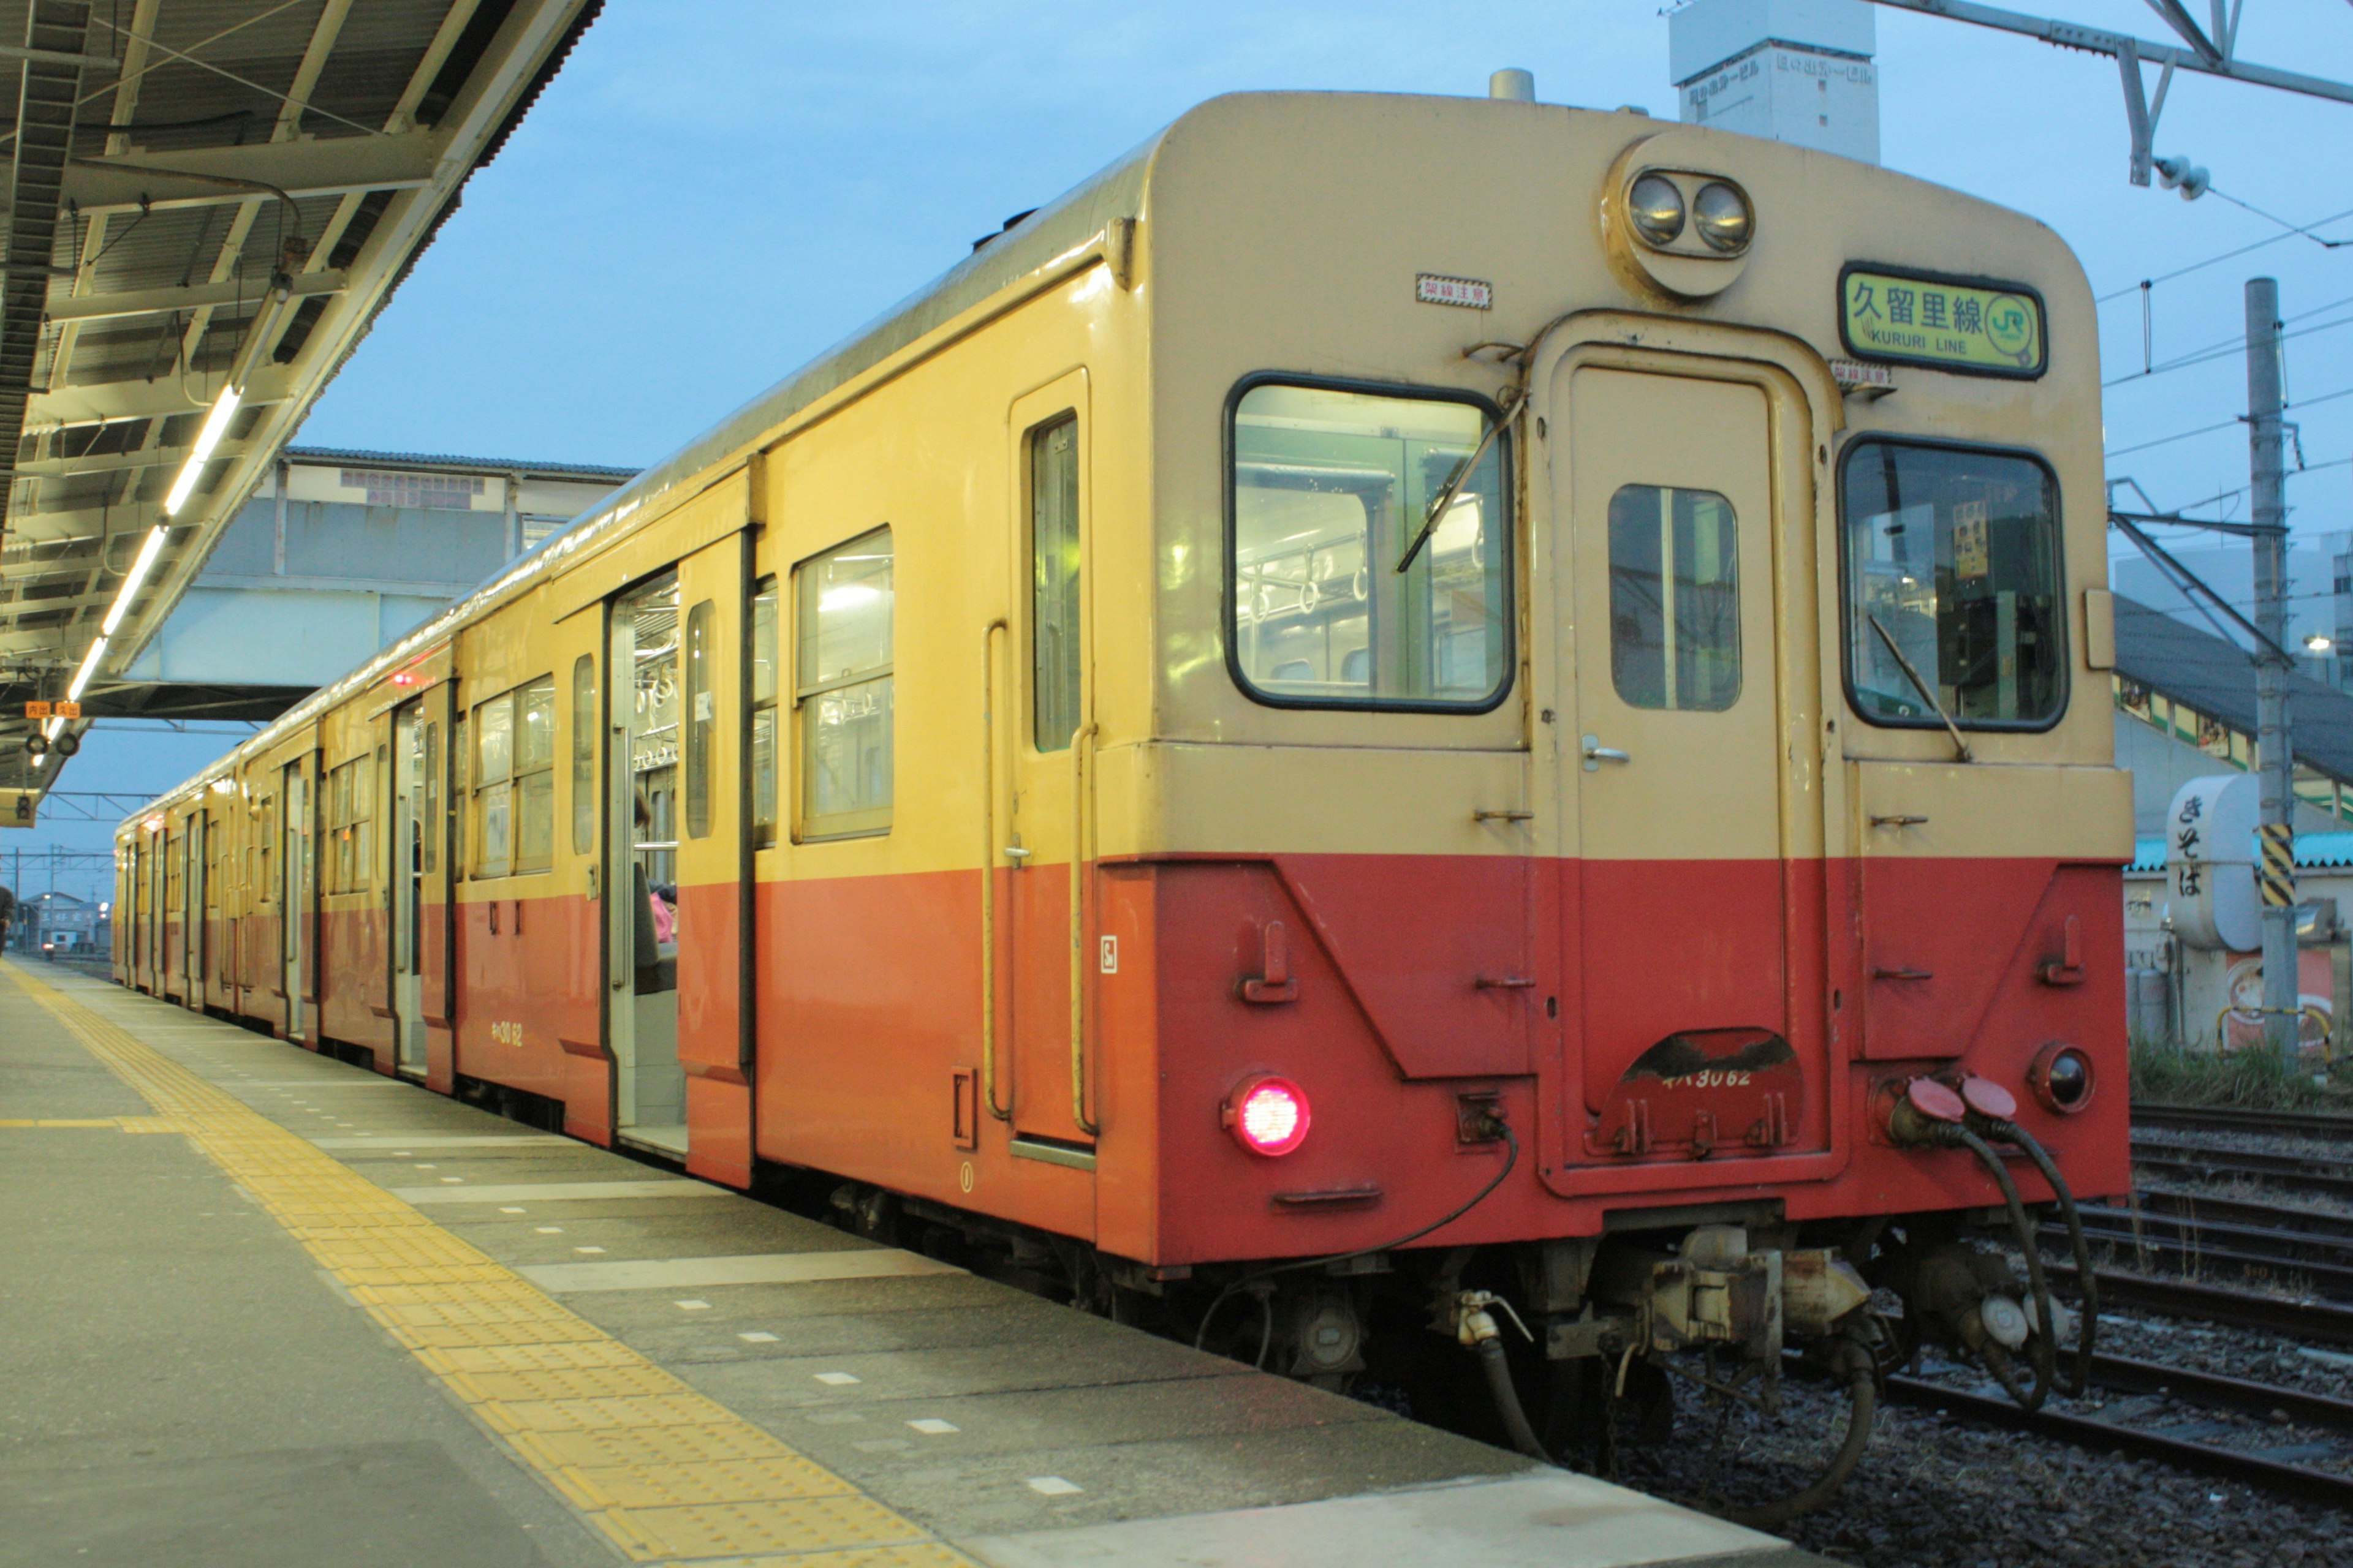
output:
{"label": "green lit Kururi Line destination sign on the train front", "polygon": [[1849,266],[1838,303],[1838,336],[1859,357],[2028,378],[2049,362],[2042,296],[2026,284]]}

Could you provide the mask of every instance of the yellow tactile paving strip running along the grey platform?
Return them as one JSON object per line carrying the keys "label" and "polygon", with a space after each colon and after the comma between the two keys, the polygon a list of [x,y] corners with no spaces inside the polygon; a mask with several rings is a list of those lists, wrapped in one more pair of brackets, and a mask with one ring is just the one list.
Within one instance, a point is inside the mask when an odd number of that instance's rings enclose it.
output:
{"label": "yellow tactile paving strip running along the grey platform", "polygon": [[33,1001],[158,1112],[0,1121],[186,1133],[506,1448],[631,1559],[711,1568],[951,1568],[972,1559],[696,1394],[73,997]]}

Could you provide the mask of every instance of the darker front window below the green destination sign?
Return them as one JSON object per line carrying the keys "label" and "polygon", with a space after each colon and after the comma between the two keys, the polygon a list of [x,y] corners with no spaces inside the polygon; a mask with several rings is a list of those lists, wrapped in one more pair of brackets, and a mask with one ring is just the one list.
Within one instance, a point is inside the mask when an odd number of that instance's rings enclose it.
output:
{"label": "darker front window below the green destination sign", "polygon": [[2040,458],[1859,440],[1840,463],[1847,693],[1873,724],[2045,729],[2066,708],[2059,482]]}

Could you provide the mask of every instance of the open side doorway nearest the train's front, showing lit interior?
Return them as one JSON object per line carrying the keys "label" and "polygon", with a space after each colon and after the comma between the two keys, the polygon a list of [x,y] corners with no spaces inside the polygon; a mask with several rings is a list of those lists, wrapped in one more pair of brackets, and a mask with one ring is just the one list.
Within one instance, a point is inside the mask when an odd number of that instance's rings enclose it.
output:
{"label": "open side doorway nearest the train's front, showing lit interior", "polygon": [[682,776],[678,574],[612,602],[605,661],[605,1046],[614,1135],[682,1159],[687,1072],[678,1060],[678,837]]}

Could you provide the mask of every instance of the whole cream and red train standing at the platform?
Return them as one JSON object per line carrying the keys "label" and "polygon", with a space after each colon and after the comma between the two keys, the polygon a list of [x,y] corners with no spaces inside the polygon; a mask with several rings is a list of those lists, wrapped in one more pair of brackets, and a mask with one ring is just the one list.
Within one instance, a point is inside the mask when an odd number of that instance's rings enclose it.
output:
{"label": "whole cream and red train standing at the platform", "polygon": [[125,820],[115,976],[1534,1455],[1809,1371],[1781,1519],[2089,1354],[2099,430],[1991,202],[1212,99]]}

